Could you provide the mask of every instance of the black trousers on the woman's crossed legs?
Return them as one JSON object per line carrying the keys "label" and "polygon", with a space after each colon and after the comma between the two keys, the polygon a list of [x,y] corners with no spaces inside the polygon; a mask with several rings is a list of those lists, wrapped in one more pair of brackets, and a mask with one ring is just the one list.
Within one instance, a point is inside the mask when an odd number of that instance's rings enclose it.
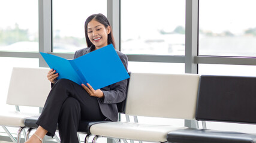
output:
{"label": "black trousers on the woman's crossed legs", "polygon": [[68,79],[59,79],[47,97],[37,121],[54,136],[57,128],[62,143],[78,143],[77,129],[80,120],[104,120],[96,97],[91,97],[82,86]]}

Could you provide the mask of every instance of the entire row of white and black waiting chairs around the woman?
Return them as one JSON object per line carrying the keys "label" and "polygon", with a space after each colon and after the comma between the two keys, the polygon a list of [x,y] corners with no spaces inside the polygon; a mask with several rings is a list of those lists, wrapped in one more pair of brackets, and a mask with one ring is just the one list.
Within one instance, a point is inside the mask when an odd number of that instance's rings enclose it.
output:
{"label": "entire row of white and black waiting chairs around the woman", "polygon": [[[48,71],[47,68],[14,68],[7,104],[43,107],[50,91],[50,84],[46,79]],[[254,123],[255,81],[255,77],[131,73],[127,100],[121,104],[122,111],[119,112],[127,116]],[[242,107],[240,101],[246,106]],[[38,115],[17,112],[9,114],[0,114],[0,125],[20,127],[17,142],[20,141],[21,130],[25,127],[37,128],[34,126],[37,117],[34,116]],[[2,119],[5,119],[5,122],[2,122]],[[15,120],[9,122],[11,119]],[[232,142],[238,141],[237,138],[240,142],[248,141],[248,138],[239,137],[240,134],[231,136],[221,132],[222,136],[216,136],[216,130],[211,134],[206,129],[184,126],[84,122],[81,127],[84,130],[80,132],[87,134],[85,142],[88,142],[91,135],[95,136],[93,142],[96,142],[98,136],[150,142]],[[196,135],[197,140],[193,138]],[[204,138],[204,135],[207,138]],[[251,140],[255,138],[251,134],[249,136]]]}

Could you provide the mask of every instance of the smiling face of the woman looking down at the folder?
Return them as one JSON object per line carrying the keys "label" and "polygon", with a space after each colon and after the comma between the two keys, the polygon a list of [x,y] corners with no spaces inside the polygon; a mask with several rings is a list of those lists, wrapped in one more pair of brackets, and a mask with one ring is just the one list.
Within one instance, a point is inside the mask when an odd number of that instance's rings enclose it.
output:
{"label": "smiling face of the woman looking down at the folder", "polygon": [[107,46],[107,35],[110,33],[110,26],[107,28],[96,20],[92,20],[87,26],[88,38],[95,45],[96,49]]}

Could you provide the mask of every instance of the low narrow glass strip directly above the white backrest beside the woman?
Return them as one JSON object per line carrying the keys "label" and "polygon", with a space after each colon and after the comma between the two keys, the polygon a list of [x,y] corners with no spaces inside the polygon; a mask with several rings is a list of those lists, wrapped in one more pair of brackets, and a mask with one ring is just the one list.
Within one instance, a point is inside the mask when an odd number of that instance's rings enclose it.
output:
{"label": "low narrow glass strip directly above the white backrest beside the woman", "polygon": [[136,73],[185,73],[183,63],[153,63],[129,61],[128,70]]}

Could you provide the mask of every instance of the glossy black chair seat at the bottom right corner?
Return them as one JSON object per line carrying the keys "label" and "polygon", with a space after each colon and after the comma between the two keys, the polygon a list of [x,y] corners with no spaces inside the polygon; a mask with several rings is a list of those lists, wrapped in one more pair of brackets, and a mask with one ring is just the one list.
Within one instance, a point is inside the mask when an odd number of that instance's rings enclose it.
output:
{"label": "glossy black chair seat at the bottom right corner", "polygon": [[256,135],[209,129],[180,129],[168,133],[167,141],[169,143],[252,143],[256,142]]}

